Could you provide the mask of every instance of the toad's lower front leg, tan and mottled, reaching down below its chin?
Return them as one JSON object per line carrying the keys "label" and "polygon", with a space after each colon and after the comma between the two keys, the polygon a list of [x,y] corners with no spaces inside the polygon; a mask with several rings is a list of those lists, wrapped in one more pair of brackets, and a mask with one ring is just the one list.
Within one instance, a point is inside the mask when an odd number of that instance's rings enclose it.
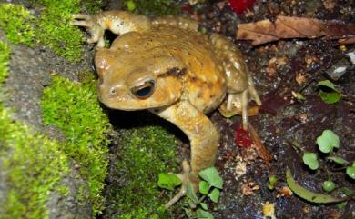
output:
{"label": "toad's lower front leg, tan and mottled, reaching down below its chin", "polygon": [[191,183],[194,191],[198,191],[198,172],[215,164],[219,134],[208,117],[199,112],[188,101],[158,110],[154,109],[151,112],[176,124],[188,135],[191,144],[190,166],[187,162],[183,163],[183,174],[180,175],[182,180],[181,190],[176,197],[166,204],[166,207],[169,207],[186,194]]}

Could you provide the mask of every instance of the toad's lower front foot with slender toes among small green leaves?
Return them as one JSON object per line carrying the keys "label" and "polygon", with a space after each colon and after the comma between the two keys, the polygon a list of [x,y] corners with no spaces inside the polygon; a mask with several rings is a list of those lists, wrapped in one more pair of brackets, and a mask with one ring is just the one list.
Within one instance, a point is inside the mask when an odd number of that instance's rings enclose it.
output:
{"label": "toad's lower front foot with slender toes among small green leaves", "polygon": [[188,161],[182,162],[182,170],[182,174],[177,174],[177,177],[181,180],[180,191],[170,199],[167,204],[165,204],[166,208],[176,204],[178,200],[188,193],[188,190],[193,190],[194,193],[198,191],[198,175],[191,174],[191,168]]}

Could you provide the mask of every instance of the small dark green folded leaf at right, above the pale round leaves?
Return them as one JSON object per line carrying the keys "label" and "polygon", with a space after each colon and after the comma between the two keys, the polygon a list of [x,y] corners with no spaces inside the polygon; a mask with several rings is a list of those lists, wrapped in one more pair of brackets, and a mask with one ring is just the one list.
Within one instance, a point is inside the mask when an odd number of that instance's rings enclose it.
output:
{"label": "small dark green folded leaf at right, above the pale round leaves", "polygon": [[341,94],[340,91],[335,87],[330,80],[320,81],[317,84],[320,89],[320,98],[327,104],[335,104],[340,101]]}

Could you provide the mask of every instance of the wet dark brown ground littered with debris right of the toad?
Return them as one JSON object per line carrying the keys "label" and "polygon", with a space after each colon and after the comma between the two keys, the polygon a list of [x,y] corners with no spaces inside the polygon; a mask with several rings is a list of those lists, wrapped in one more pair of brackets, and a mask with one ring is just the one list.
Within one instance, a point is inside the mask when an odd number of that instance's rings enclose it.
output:
{"label": "wet dark brown ground littered with debris right of the toad", "polygon": [[[327,9],[330,3],[334,7]],[[234,39],[236,23],[272,19],[275,15],[353,23],[354,6],[350,1],[257,1],[249,12],[237,17],[228,5],[218,2],[202,7],[197,16],[208,30],[218,30]],[[348,13],[344,12],[348,9]],[[335,41],[321,39],[282,40],[255,47],[248,42],[236,43],[247,58],[263,102],[250,123],[273,160],[268,166],[255,159],[252,149],[236,145],[234,135],[240,118],[226,120],[218,113],[213,114],[212,120],[222,134],[216,165],[226,182],[215,217],[262,218],[262,204],[269,202],[275,204],[277,218],[354,218],[353,202],[340,209],[334,204],[310,204],[295,194],[284,197],[281,191],[287,185],[284,174],[287,168],[309,190],[324,193],[321,184],[330,178],[337,188],[354,191],[354,181],[343,171],[334,171],[334,165],[324,164],[319,171],[309,171],[302,163],[302,153],[292,143],[297,141],[306,151],[320,154],[316,139],[323,130],[330,129],[340,136],[341,146],[336,154],[349,161],[355,159],[355,71],[345,55],[355,47],[348,45],[341,51]],[[340,66],[347,66],[347,70],[338,77],[332,71]],[[304,77],[298,81],[300,76]],[[330,79],[345,95],[339,103],[328,105],[320,99],[316,85],[325,79]],[[301,93],[306,100],[298,101],[292,92]],[[239,170],[245,164],[245,174],[238,175],[244,173]],[[267,188],[269,175],[279,179],[273,191]]]}

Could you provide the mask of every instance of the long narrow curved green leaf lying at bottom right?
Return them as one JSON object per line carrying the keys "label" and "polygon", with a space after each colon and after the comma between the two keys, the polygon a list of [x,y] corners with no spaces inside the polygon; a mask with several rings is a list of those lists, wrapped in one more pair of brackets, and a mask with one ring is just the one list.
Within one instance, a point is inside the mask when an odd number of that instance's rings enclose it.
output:
{"label": "long narrow curved green leaf lying at bottom right", "polygon": [[317,194],[312,191],[309,191],[308,189],[303,188],[292,178],[292,174],[289,169],[286,171],[286,181],[292,192],[311,203],[340,203],[344,201],[344,198],[334,197],[329,194]]}

